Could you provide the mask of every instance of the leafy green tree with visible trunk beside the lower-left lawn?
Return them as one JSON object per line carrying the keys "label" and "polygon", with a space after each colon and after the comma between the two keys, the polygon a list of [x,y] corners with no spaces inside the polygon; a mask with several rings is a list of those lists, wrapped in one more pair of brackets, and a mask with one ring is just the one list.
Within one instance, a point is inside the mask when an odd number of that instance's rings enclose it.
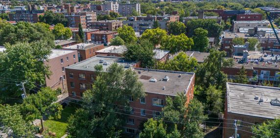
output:
{"label": "leafy green tree with visible trunk beside the lower-left lawn", "polygon": [[36,94],[30,94],[23,100],[21,113],[23,118],[28,121],[41,119],[42,129],[44,131],[43,117],[48,119],[60,119],[62,105],[54,103],[57,100],[57,92],[50,88],[42,88]]}

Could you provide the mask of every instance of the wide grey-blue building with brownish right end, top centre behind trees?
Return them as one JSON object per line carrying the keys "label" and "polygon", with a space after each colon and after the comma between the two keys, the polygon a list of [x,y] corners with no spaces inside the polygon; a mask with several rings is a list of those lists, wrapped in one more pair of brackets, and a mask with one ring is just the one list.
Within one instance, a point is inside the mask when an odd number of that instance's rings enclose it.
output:
{"label": "wide grey-blue building with brownish right end, top centre behind trees", "polygon": [[123,24],[131,26],[135,32],[142,34],[146,29],[152,29],[155,21],[158,21],[161,29],[167,29],[167,23],[179,21],[179,16],[138,16],[127,17],[126,21],[122,21]]}

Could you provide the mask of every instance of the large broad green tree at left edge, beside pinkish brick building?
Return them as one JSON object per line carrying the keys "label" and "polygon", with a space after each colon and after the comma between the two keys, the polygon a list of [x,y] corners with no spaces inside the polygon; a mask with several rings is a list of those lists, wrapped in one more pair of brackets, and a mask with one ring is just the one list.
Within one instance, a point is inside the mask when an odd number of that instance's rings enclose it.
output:
{"label": "large broad green tree at left edge, beside pinkish brick building", "polygon": [[[46,42],[8,44],[5,47],[6,50],[0,52],[1,78],[26,81],[25,85],[29,89],[35,87],[34,83],[45,84],[46,76],[49,77],[51,73],[44,64],[44,61],[47,61],[47,55],[51,52],[51,47]],[[5,88],[8,95],[12,97],[20,96],[22,93],[19,90],[20,87],[16,87],[15,84],[4,83],[1,87]]]}

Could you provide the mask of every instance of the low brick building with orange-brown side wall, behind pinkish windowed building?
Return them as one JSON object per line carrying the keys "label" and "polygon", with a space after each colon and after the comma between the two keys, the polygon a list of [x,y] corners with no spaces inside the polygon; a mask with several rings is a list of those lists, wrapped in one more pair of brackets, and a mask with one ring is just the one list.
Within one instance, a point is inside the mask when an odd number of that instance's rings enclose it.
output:
{"label": "low brick building with orange-brown side wall, behind pinkish windowed building", "polygon": [[103,44],[93,44],[93,43],[80,43],[72,46],[63,47],[63,49],[72,49],[78,51],[77,58],[80,61],[86,60],[95,56],[95,51],[103,49]]}

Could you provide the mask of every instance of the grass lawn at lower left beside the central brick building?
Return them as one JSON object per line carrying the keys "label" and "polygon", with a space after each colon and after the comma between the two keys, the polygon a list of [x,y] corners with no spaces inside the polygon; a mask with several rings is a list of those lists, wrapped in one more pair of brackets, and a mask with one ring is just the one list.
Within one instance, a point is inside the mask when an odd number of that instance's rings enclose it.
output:
{"label": "grass lawn at lower left beside the central brick building", "polygon": [[61,113],[61,119],[46,120],[44,122],[45,128],[47,128],[48,131],[56,133],[56,138],[61,138],[67,131],[67,119],[74,112],[74,107],[67,106]]}

